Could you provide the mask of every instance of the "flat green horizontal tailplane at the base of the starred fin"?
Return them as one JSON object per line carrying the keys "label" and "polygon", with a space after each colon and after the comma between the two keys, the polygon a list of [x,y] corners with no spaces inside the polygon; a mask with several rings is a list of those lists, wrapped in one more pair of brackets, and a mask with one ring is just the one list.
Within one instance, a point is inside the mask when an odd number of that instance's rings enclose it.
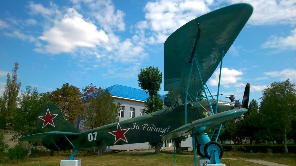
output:
{"label": "flat green horizontal tailplane at the base of the starred fin", "polygon": [[32,134],[28,136],[23,136],[22,138],[19,139],[19,141],[43,141],[44,138],[51,138],[52,136],[54,137],[59,137],[59,136],[72,136],[75,135],[76,133],[70,133],[70,132],[63,132],[63,131],[49,131],[45,133],[37,133],[37,134]]}

